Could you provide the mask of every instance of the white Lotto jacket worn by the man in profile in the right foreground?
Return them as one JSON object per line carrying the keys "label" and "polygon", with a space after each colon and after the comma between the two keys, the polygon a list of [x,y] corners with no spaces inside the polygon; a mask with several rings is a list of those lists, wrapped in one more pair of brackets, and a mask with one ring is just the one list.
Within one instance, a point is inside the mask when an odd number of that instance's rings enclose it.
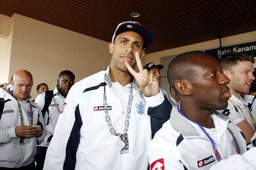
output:
{"label": "white Lotto jacket worn by the man in profile in the right foreground", "polygon": [[[238,142],[240,154],[243,154],[246,142],[238,127],[216,112],[212,112],[211,117],[217,138],[214,142],[222,160],[236,154],[227,127]],[[151,170],[208,170],[217,163],[209,139],[196,124],[184,118],[176,106],[172,108],[170,120],[163,124],[150,142],[148,154]]]}

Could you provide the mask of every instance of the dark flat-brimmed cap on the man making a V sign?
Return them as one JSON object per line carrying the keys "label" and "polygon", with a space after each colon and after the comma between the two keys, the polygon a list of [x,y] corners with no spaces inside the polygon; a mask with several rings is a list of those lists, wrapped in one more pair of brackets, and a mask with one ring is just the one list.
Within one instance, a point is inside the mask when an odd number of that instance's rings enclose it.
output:
{"label": "dark flat-brimmed cap on the man making a V sign", "polygon": [[113,37],[112,37],[112,43],[114,42],[115,37],[126,31],[133,31],[138,33],[144,42],[143,48],[146,48],[154,39],[153,33],[146,27],[140,25],[140,23],[135,22],[135,21],[126,21],[126,22],[121,22],[117,25]]}

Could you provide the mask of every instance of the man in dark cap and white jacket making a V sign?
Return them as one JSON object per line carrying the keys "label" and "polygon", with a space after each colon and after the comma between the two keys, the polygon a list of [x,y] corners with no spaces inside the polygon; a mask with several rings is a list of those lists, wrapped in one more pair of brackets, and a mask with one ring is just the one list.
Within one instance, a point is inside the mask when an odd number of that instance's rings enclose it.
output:
{"label": "man in dark cap and white jacket making a V sign", "polygon": [[[61,109],[44,170],[146,170],[147,146],[169,114],[140,58],[153,40],[138,22],[118,24],[107,70],[74,84]],[[137,64],[139,72],[134,71]],[[155,102],[158,101],[158,102]],[[166,107],[170,109],[168,102]],[[168,105],[169,104],[169,105]]]}

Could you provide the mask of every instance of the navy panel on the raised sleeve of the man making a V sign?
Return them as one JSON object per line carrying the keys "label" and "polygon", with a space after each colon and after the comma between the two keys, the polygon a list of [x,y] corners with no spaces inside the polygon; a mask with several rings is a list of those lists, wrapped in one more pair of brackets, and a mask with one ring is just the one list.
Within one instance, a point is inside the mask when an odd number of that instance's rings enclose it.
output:
{"label": "navy panel on the raised sleeve of the man making a V sign", "polygon": [[172,106],[165,96],[164,101],[160,105],[148,108],[147,114],[150,116],[152,138],[161,129],[162,124],[169,120],[171,108]]}

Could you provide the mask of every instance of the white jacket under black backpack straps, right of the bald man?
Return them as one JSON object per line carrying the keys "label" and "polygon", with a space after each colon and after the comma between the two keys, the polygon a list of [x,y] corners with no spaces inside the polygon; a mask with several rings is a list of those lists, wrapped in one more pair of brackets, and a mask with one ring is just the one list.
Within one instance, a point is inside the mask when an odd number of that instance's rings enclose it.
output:
{"label": "white jacket under black backpack straps, right of the bald man", "polygon": [[[53,97],[56,101],[56,104],[53,100]],[[40,147],[48,147],[49,142],[47,140],[51,135],[53,135],[53,132],[54,132],[57,120],[58,120],[59,113],[58,113],[57,108],[60,111],[63,106],[64,100],[65,100],[65,98],[59,94],[57,88],[55,88],[53,90],[53,97],[52,97],[51,103],[48,107],[49,115],[46,111],[43,116],[44,127],[45,127],[44,130],[47,132],[47,135],[45,136],[43,143],[41,145],[39,145]],[[34,100],[34,104],[36,104],[41,110],[43,109],[44,103],[45,103],[45,92],[39,94]],[[49,116],[49,123],[48,123],[48,125],[46,125],[48,116]]]}

